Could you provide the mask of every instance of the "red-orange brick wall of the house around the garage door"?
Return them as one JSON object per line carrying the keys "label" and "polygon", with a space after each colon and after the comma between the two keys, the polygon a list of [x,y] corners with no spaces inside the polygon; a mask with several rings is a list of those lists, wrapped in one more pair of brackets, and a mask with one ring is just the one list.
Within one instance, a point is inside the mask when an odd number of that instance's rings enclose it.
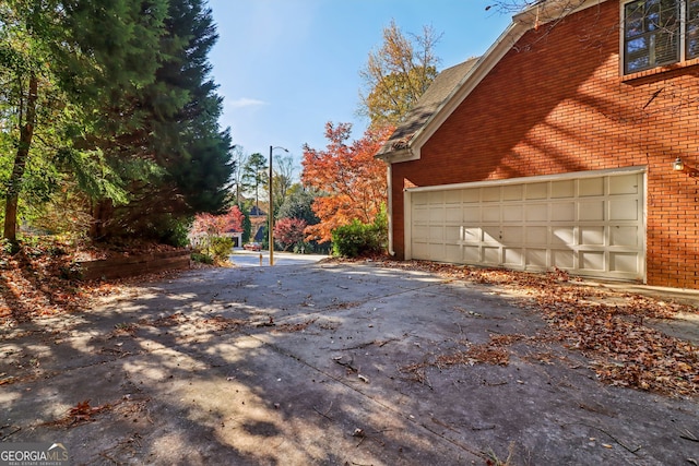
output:
{"label": "red-orange brick wall of the house around the garage door", "polygon": [[699,288],[699,62],[623,76],[619,12],[606,1],[526,33],[420,159],[392,165],[399,259],[405,187],[642,166],[648,284]]}

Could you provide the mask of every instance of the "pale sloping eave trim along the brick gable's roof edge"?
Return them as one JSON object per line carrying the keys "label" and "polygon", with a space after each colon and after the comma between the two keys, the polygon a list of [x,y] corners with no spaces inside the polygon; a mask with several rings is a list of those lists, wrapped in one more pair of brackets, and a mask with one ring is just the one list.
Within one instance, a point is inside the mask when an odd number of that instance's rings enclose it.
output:
{"label": "pale sloping eave trim along the brick gable's roof edge", "polygon": [[[422,146],[433,136],[433,134],[435,134],[457,107],[466,99],[481,81],[488,75],[502,57],[510,51],[512,46],[517,44],[517,41],[528,31],[535,26],[537,9],[540,9],[538,22],[540,24],[545,24],[605,1],[607,0],[549,0],[538,5],[533,5],[512,16],[512,23],[466,73],[466,75],[461,80],[461,83],[459,83],[454,91],[445,99],[442,106],[427,119],[425,124],[418,131],[415,132],[415,135],[410,142],[410,150],[415,158],[411,159],[416,160],[420,158]],[[573,7],[576,3],[579,4]],[[389,163],[405,162],[396,160],[393,156],[386,157],[384,160]]]}

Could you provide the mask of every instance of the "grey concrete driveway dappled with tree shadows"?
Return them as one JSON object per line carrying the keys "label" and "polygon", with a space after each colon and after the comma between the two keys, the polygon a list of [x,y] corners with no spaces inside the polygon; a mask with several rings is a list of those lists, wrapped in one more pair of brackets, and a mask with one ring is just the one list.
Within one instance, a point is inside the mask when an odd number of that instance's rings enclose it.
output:
{"label": "grey concrete driveway dappled with tree shadows", "polygon": [[0,438],[90,465],[699,462],[696,398],[603,385],[520,302],[371,263],[190,271],[3,334]]}

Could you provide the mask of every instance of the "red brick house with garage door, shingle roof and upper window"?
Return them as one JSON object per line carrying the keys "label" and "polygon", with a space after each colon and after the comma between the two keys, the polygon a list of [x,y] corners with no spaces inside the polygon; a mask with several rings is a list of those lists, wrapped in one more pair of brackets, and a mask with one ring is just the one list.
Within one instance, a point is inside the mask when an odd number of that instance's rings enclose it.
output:
{"label": "red brick house with garage door, shingle roof and upper window", "polygon": [[699,288],[699,1],[543,0],[377,157],[398,259]]}

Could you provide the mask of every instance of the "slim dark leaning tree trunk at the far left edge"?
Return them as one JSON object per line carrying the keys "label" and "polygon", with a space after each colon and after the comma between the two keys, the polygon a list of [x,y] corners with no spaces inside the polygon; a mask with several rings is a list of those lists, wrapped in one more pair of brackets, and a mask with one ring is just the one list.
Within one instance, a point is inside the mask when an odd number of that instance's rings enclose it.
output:
{"label": "slim dark leaning tree trunk at the far left edge", "polygon": [[4,207],[3,237],[12,242],[17,240],[17,204],[22,190],[22,178],[29,158],[29,147],[34,138],[34,124],[36,123],[36,101],[38,98],[38,80],[34,73],[29,76],[29,93],[26,98],[26,118],[24,124],[20,122],[20,144],[14,156],[12,175],[8,182],[8,198]]}

